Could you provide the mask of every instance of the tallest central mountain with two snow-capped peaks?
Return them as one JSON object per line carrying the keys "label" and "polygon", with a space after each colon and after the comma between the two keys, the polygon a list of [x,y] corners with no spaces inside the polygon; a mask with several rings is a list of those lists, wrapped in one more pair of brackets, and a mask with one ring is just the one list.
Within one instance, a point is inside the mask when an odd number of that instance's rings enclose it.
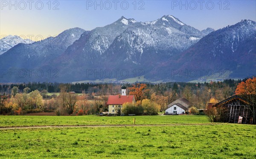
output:
{"label": "tallest central mountain with two snow-capped peaks", "polygon": [[75,76],[78,80],[85,78],[83,72],[86,69],[145,66],[150,70],[186,50],[202,37],[204,35],[198,29],[171,15],[152,22],[137,22],[122,16],[108,26],[84,32],[53,63],[59,64],[60,70],[76,68],[77,72],[63,72],[67,74],[65,76]]}

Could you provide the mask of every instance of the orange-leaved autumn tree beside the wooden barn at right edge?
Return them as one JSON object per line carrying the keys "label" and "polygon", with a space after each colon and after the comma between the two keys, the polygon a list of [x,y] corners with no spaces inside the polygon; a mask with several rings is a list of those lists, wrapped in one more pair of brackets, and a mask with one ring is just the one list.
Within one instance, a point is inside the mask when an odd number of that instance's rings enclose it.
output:
{"label": "orange-leaved autumn tree beside the wooden barn at right edge", "polygon": [[235,93],[252,102],[250,110],[253,114],[253,124],[256,124],[256,77],[253,77],[253,79],[249,78],[245,82],[242,81],[239,83]]}

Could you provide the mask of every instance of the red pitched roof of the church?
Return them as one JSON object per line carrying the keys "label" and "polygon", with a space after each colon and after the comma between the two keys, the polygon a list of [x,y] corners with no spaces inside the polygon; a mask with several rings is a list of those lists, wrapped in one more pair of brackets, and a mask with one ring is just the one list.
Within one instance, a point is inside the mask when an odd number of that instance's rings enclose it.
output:
{"label": "red pitched roof of the church", "polygon": [[122,105],[133,101],[134,95],[109,95],[107,105]]}

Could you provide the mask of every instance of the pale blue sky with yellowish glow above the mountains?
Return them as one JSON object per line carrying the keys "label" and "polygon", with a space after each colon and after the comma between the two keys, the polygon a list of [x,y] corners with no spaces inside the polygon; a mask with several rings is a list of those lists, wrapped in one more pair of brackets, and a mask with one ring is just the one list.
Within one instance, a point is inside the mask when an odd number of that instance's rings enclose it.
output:
{"label": "pale blue sky with yellowish glow above the mountains", "polygon": [[0,0],[0,38],[38,41],[74,27],[106,26],[121,16],[145,22],[163,15],[199,30],[217,30],[244,19],[256,21],[256,0]]}

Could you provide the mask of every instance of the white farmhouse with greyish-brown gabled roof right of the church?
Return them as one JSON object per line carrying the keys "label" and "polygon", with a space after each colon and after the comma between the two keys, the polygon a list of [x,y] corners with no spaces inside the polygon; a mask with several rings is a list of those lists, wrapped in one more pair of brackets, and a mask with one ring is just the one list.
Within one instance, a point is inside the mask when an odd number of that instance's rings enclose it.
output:
{"label": "white farmhouse with greyish-brown gabled roof right of the church", "polygon": [[167,106],[165,111],[166,115],[168,114],[185,114],[189,110],[191,103],[186,98],[180,98],[176,101],[173,101]]}

